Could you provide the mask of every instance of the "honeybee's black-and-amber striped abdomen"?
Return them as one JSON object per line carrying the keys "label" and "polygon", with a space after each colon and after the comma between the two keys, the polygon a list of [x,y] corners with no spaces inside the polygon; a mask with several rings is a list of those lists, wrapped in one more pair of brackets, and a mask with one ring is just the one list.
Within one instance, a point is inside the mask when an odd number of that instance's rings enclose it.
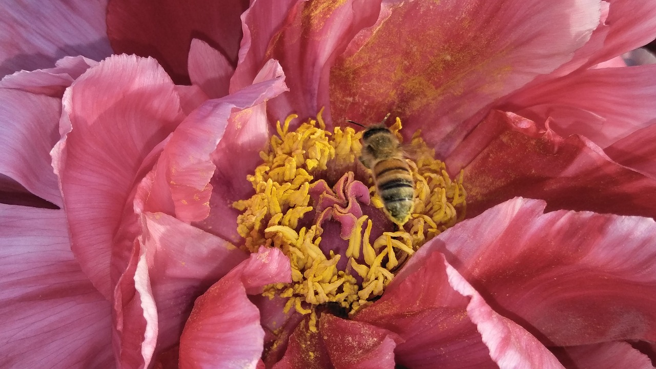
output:
{"label": "honeybee's black-and-amber striped abdomen", "polygon": [[376,187],[386,211],[403,225],[410,215],[415,198],[415,182],[405,160],[380,160],[374,165]]}

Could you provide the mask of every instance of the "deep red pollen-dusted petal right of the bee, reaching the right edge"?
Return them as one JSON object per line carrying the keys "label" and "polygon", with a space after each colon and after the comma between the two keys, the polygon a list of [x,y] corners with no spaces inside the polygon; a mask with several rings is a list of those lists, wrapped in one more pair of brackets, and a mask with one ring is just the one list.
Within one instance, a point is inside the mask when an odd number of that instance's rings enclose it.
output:
{"label": "deep red pollen-dusted petal right of the bee, reaching the right edge", "polygon": [[491,112],[447,167],[464,167],[467,217],[515,196],[546,200],[549,210],[656,217],[654,179],[613,162],[584,137],[562,139],[512,113]]}

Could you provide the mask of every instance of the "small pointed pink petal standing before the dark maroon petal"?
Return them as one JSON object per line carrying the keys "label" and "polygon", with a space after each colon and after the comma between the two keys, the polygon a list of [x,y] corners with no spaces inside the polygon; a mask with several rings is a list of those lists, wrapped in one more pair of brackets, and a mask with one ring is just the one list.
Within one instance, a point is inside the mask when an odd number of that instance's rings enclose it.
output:
{"label": "small pointed pink petal standing before the dark maroon petal", "polygon": [[235,68],[224,54],[205,41],[193,39],[187,64],[192,83],[199,85],[209,98],[228,95],[230,77]]}

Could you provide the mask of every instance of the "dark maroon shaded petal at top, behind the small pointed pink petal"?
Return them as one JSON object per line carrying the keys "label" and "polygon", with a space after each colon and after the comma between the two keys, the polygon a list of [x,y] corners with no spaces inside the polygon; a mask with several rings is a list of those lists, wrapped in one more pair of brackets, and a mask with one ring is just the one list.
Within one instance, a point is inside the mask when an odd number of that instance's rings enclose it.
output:
{"label": "dark maroon shaded petal at top, behind the small pointed pink petal", "polygon": [[190,83],[187,56],[201,39],[237,61],[241,22],[248,1],[110,0],[107,33],[115,53],[152,56],[178,84]]}

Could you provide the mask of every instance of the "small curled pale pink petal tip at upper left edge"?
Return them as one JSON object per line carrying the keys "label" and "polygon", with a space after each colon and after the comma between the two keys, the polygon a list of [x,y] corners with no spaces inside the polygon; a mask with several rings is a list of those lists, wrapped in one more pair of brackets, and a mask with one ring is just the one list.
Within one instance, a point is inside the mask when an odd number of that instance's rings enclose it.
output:
{"label": "small curled pale pink petal tip at upper left edge", "polygon": [[0,87],[61,98],[66,87],[98,62],[84,56],[64,56],[54,68],[28,72],[22,70],[0,81]]}

